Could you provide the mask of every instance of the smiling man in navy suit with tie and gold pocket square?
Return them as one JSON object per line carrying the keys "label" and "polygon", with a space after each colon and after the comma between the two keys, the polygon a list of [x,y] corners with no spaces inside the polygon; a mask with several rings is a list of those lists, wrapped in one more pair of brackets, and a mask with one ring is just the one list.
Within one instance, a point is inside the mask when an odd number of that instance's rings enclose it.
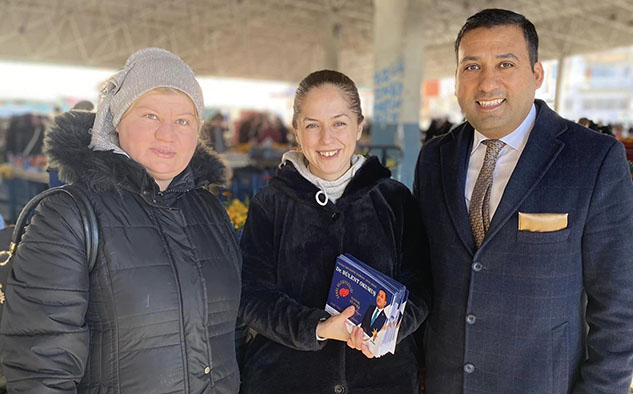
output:
{"label": "smiling man in navy suit with tie and gold pocket square", "polygon": [[538,36],[484,10],[455,43],[467,122],[421,150],[428,394],[625,394],[633,184],[624,148],[534,100]]}

